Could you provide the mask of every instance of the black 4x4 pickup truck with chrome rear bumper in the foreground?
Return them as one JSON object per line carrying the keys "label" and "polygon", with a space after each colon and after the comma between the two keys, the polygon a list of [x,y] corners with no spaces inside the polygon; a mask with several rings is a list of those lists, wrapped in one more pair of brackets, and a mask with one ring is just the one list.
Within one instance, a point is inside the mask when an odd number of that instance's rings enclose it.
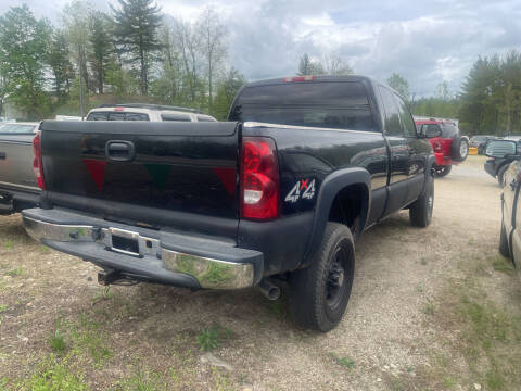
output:
{"label": "black 4x4 pickup truck with chrome rear bumper in the foreground", "polygon": [[40,130],[45,189],[26,229],[101,266],[102,283],[258,286],[275,299],[285,279],[296,321],[327,331],[345,312],[359,234],[402,209],[416,226],[432,216],[428,136],[363,76],[249,84],[225,123]]}

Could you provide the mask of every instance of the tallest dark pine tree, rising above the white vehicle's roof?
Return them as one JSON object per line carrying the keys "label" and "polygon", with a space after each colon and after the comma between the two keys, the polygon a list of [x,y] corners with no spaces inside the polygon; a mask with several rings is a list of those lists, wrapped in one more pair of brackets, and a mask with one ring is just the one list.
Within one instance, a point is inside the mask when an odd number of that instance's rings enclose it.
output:
{"label": "tallest dark pine tree, rising above the white vehicle's roof", "polygon": [[141,93],[149,89],[151,63],[161,49],[157,28],[161,26],[160,8],[152,0],[118,0],[119,9],[111,5],[116,42],[128,56],[128,62],[139,63]]}

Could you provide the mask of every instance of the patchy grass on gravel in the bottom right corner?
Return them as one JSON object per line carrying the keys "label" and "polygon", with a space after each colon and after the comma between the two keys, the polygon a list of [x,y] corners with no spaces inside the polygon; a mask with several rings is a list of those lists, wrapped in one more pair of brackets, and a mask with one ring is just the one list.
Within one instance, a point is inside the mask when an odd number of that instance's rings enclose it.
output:
{"label": "patchy grass on gravel in the bottom right corner", "polygon": [[474,382],[492,391],[513,390],[521,379],[521,318],[487,299],[475,278],[461,282],[453,281],[434,318],[457,337],[452,349],[463,357]]}

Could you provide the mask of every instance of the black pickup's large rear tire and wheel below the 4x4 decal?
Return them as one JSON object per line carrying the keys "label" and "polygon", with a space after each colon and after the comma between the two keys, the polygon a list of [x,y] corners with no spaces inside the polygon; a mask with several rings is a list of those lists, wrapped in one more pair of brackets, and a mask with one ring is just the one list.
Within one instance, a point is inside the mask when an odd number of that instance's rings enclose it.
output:
{"label": "black pickup's large rear tire and wheel below the 4x4 decal", "polygon": [[290,275],[290,314],[300,326],[333,329],[345,313],[353,287],[355,244],[348,227],[328,223],[312,264]]}

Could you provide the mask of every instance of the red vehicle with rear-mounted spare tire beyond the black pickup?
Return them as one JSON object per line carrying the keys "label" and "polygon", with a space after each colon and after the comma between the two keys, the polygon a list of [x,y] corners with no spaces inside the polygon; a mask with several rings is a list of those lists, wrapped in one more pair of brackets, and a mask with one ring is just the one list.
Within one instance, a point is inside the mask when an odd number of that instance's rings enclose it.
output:
{"label": "red vehicle with rear-mounted spare tire beyond the black pickup", "polygon": [[415,117],[418,133],[422,135],[439,134],[440,137],[430,138],[436,165],[434,174],[444,177],[469,155],[469,138],[461,136],[458,124],[454,119]]}

